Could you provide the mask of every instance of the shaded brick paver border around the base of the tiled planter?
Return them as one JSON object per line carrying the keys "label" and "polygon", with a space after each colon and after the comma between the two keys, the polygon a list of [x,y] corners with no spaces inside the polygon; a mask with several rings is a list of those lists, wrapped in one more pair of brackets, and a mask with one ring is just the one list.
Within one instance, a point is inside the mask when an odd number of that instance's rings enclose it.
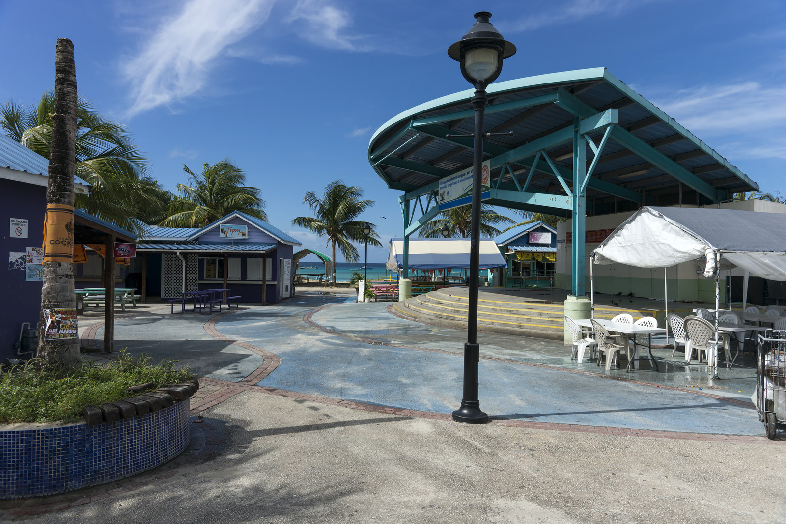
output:
{"label": "shaded brick paver border around the base of the tiled planter", "polygon": [[221,435],[208,420],[202,419],[200,422],[194,418],[191,422],[193,427],[201,432],[201,442],[199,440],[192,442],[188,449],[169,462],[154,467],[151,471],[115,482],[101,484],[100,486],[76,489],[75,491],[48,497],[0,500],[0,519],[39,515],[49,513],[50,511],[77,508],[85,504],[93,504],[94,502],[106,504],[111,497],[145,488],[163,479],[181,474],[184,468],[198,466],[211,460],[221,450]]}

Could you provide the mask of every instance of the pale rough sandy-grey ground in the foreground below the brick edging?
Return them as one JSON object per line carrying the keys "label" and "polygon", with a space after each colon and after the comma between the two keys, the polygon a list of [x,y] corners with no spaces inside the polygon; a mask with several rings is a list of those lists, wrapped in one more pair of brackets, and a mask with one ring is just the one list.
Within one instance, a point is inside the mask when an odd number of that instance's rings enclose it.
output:
{"label": "pale rough sandy-grey ground in the foreground below the brick edging", "polygon": [[784,446],[527,431],[249,392],[211,462],[29,522],[784,522]]}

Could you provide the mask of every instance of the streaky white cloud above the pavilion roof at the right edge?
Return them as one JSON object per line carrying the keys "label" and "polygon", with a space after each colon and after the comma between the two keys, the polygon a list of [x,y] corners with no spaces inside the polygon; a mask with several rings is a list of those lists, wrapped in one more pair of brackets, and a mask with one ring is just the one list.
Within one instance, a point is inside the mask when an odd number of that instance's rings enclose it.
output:
{"label": "streaky white cloud above the pavilion roof at the right edge", "polygon": [[692,132],[725,139],[722,154],[786,158],[786,83],[697,86],[653,101]]}

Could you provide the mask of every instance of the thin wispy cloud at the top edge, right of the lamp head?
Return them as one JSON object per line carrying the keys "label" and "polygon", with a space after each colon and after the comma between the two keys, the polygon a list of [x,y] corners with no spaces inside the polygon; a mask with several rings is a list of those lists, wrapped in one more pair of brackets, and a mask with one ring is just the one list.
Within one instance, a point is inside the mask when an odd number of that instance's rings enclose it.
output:
{"label": "thin wispy cloud at the top edge, right of the lamp head", "polygon": [[515,22],[498,24],[505,31],[534,31],[540,27],[578,22],[587,16],[599,14],[618,15],[652,0],[571,0],[553,5],[547,11],[524,16]]}

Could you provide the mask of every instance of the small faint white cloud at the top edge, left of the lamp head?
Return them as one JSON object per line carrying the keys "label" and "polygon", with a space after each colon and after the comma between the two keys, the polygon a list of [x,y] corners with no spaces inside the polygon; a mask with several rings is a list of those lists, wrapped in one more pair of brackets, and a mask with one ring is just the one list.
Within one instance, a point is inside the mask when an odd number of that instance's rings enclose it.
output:
{"label": "small faint white cloud at the top edge, left of the lamp head", "polygon": [[299,23],[299,36],[318,46],[350,51],[368,49],[356,44],[361,37],[346,34],[352,18],[329,0],[298,0],[286,21]]}

